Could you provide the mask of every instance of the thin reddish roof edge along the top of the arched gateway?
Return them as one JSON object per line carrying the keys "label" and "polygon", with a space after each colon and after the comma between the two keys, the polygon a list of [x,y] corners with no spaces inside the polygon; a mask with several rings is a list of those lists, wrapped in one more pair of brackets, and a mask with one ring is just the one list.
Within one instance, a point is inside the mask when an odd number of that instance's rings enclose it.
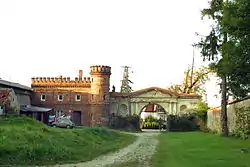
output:
{"label": "thin reddish roof edge along the top of the arched gateway", "polygon": [[120,92],[112,92],[111,96],[113,97],[132,97],[132,96],[136,96],[136,95],[140,95],[143,93],[147,93],[149,91],[159,91],[163,94],[168,94],[170,96],[177,96],[177,97],[196,97],[199,98],[201,96],[197,95],[197,94],[186,94],[186,93],[177,93],[168,89],[163,89],[163,88],[159,88],[159,87],[149,87],[149,88],[145,88],[145,89],[141,89],[141,90],[137,90],[131,93],[120,93]]}

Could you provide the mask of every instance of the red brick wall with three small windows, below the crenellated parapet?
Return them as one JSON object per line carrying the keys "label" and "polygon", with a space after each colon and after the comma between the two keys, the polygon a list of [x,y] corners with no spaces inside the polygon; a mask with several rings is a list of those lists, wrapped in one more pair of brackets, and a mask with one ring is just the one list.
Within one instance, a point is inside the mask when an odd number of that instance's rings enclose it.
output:
{"label": "red brick wall with three small windows, below the crenellated parapet", "polygon": [[[41,96],[45,95],[45,100]],[[58,101],[58,95],[63,96],[62,101]],[[80,100],[76,100],[76,96]],[[81,112],[81,125],[90,125],[90,104],[88,88],[34,88],[32,95],[32,105],[53,108],[53,114],[61,111],[62,115],[71,115],[74,111]]]}

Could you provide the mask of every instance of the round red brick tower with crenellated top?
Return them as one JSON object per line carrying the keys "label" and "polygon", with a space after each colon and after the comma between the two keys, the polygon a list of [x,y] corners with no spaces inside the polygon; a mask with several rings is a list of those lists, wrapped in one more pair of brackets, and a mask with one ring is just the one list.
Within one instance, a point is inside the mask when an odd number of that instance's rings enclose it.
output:
{"label": "round red brick tower with crenellated top", "polygon": [[109,119],[109,87],[111,67],[91,66],[91,125],[105,125]]}

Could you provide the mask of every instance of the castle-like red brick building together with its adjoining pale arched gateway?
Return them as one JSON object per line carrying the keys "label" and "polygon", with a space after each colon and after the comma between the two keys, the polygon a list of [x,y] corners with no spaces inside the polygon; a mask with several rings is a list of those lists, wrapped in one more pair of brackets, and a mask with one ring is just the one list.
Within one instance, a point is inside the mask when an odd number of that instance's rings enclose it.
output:
{"label": "castle-like red brick building together with its adjoining pale arched gateway", "polygon": [[70,115],[78,125],[107,125],[110,115],[141,115],[148,104],[161,106],[167,114],[194,110],[201,99],[196,94],[179,94],[150,87],[130,93],[109,92],[111,67],[91,66],[90,77],[32,78],[32,105],[53,108],[56,115]]}

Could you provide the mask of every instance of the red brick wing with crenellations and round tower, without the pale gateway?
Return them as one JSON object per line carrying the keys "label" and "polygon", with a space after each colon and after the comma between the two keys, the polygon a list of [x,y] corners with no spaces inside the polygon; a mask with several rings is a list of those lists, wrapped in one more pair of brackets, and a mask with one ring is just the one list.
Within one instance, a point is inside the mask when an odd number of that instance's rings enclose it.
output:
{"label": "red brick wing with crenellations and round tower, without the pale gateway", "polygon": [[91,66],[91,77],[82,77],[80,70],[74,80],[62,76],[32,78],[32,104],[71,115],[76,124],[107,124],[110,75],[111,67]]}

